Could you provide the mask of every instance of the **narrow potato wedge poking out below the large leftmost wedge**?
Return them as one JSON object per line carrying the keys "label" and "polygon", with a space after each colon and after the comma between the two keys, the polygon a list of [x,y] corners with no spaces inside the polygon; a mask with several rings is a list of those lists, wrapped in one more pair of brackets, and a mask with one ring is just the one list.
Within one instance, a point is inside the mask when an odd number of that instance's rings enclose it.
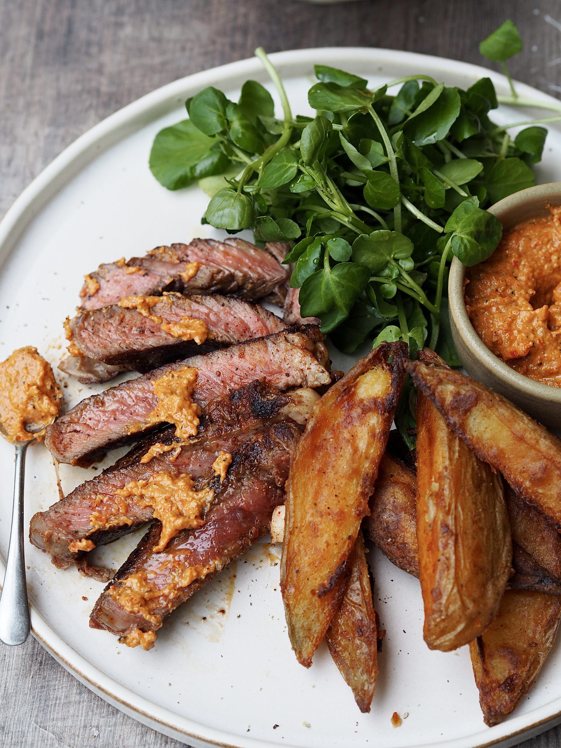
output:
{"label": "narrow potato wedge poking out below the large leftmost wedge", "polygon": [[329,652],[352,688],[358,708],[369,712],[378,673],[378,627],[362,533],[349,557],[351,572],[340,608],[325,634]]}

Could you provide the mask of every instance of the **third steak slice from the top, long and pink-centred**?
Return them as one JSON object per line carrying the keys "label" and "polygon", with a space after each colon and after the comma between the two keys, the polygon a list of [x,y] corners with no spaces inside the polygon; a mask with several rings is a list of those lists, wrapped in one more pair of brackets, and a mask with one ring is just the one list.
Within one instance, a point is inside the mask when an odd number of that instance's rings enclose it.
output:
{"label": "third steak slice from the top, long and pink-centred", "polygon": [[328,384],[329,358],[319,328],[288,328],[268,337],[194,356],[85,398],[58,418],[45,444],[58,462],[88,465],[111,447],[140,438],[157,405],[153,380],[183,367],[197,369],[194,401],[206,405],[254,379],[272,387],[320,387]]}

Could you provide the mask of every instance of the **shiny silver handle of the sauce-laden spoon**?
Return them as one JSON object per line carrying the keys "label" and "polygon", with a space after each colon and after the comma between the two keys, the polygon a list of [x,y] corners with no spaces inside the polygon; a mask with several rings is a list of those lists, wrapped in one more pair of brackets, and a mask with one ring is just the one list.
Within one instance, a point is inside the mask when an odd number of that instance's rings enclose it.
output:
{"label": "shiny silver handle of the sauce-laden spoon", "polygon": [[31,628],[23,551],[23,481],[25,451],[29,444],[28,441],[16,442],[10,547],[7,551],[6,574],[0,597],[0,640],[4,644],[23,644]]}

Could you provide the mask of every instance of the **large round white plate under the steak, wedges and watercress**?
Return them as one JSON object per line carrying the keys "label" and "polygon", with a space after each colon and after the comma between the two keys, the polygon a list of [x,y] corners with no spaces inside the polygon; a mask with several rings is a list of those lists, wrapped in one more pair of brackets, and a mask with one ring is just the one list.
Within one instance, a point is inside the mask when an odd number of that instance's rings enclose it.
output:
{"label": "large round white plate under the steak, wedges and watercress", "polygon": [[[351,70],[373,85],[422,72],[468,88],[488,75],[499,93],[508,93],[503,76],[480,67],[384,49],[307,49],[281,52],[272,60],[295,113],[308,111],[314,63]],[[73,313],[82,275],[123,255],[212,235],[209,227],[200,225],[206,196],[196,187],[170,192],[159,186],[148,170],[150,145],[159,129],[186,116],[187,96],[215,85],[235,98],[248,78],[267,82],[257,60],[197,73],[144,96],[82,135],[22,193],[0,224],[0,358],[16,347],[33,345],[58,364],[64,348],[61,322]],[[523,96],[551,100],[525,85],[518,90]],[[493,114],[498,123],[527,118],[527,111],[506,108]],[[561,132],[555,126],[550,126],[536,172],[539,182],[560,177]],[[335,363],[348,367],[350,359]],[[67,403],[90,390],[68,382]],[[13,454],[2,440],[0,465],[0,553],[5,558]],[[61,475],[65,491],[70,491],[93,471],[61,466]],[[33,447],[28,454],[26,488],[27,518],[57,500],[53,468],[43,447]],[[138,537],[101,553],[108,562],[120,564]],[[557,646],[514,716],[485,728],[468,649],[429,652],[422,639],[417,580],[377,551],[370,555],[375,604],[387,637],[367,715],[358,711],[325,647],[309,670],[296,663],[278,590],[279,551],[266,543],[237,562],[235,578],[224,572],[171,616],[150,652],[127,649],[111,634],[88,628],[101,585],[76,570],[58,571],[46,554],[28,543],[25,553],[37,639],[99,696],[194,746],[473,748],[504,739],[512,745],[521,741],[523,732],[529,737],[545,729],[548,720],[560,719]],[[408,712],[399,729],[390,724],[393,711]]]}

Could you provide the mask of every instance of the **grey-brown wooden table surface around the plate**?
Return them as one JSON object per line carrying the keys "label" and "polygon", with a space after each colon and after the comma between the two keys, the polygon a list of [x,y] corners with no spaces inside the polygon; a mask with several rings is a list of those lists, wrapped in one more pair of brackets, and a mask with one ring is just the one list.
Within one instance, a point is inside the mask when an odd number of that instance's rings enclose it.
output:
{"label": "grey-brown wooden table surface around the plate", "polygon": [[[516,79],[561,93],[560,0],[0,0],[0,216],[82,132],[154,88],[215,65],[313,46],[381,46],[477,64],[506,18]],[[172,748],[94,696],[30,637],[0,646],[3,748]],[[524,743],[560,744],[561,727]]]}

